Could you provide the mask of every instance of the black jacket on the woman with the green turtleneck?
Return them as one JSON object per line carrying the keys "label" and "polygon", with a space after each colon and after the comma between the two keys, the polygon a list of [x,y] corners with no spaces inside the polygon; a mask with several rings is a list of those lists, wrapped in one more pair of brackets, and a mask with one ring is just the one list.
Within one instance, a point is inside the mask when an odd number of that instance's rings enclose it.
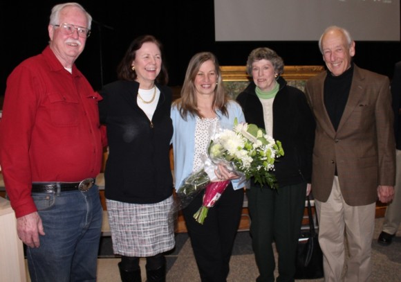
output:
{"label": "black jacket on the woman with the green turtleneck", "polygon": [[[281,77],[277,82],[280,88],[273,102],[273,138],[281,141],[284,156],[275,162],[273,173],[279,186],[310,182],[315,119],[301,90],[288,86]],[[255,88],[251,82],[236,100],[247,123],[265,128],[263,107]]]}

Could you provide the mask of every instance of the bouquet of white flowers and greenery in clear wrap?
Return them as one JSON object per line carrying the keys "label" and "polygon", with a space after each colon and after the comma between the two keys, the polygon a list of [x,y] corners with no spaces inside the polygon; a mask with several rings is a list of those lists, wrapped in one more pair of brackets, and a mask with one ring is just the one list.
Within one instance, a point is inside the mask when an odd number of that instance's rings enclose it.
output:
{"label": "bouquet of white flowers and greenery in clear wrap", "polygon": [[225,164],[227,169],[241,176],[241,181],[254,177],[256,183],[267,184],[270,188],[277,188],[274,175],[274,161],[284,155],[280,141],[274,141],[265,134],[265,130],[254,124],[237,123],[234,121],[233,130],[218,130],[212,135],[208,148],[205,166],[187,177],[178,188],[177,195],[180,208],[183,209],[191,202],[203,188],[206,188],[203,205],[194,218],[203,224],[207,216],[207,209],[223,193],[230,181],[211,182],[216,164]]}

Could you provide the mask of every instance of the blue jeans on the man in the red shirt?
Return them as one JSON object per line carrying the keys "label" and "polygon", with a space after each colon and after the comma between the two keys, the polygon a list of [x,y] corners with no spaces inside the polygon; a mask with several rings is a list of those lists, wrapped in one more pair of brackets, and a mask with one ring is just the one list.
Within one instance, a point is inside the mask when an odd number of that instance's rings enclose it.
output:
{"label": "blue jeans on the man in the red shirt", "polygon": [[97,186],[87,192],[32,193],[44,232],[40,247],[27,247],[32,282],[96,281],[102,229]]}

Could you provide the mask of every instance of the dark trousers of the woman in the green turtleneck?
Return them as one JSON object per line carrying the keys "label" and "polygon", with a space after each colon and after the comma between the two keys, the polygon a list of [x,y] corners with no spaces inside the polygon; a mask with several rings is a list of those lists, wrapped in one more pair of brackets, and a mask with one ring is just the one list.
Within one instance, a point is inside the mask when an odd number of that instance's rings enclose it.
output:
{"label": "dark trousers of the woman in the green turtleneck", "polygon": [[283,186],[278,191],[252,186],[247,195],[252,247],[259,269],[257,282],[274,282],[273,242],[279,254],[277,281],[294,281],[306,183]]}

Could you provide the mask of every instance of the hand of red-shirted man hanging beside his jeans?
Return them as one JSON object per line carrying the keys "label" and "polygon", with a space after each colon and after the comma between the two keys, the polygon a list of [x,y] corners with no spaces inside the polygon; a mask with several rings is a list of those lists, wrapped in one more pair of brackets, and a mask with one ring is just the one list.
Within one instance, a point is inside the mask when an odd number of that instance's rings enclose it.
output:
{"label": "hand of red-shirted man hanging beside his jeans", "polygon": [[28,247],[39,247],[39,234],[45,235],[39,213],[35,211],[35,213],[29,213],[17,218],[17,233],[18,237]]}

